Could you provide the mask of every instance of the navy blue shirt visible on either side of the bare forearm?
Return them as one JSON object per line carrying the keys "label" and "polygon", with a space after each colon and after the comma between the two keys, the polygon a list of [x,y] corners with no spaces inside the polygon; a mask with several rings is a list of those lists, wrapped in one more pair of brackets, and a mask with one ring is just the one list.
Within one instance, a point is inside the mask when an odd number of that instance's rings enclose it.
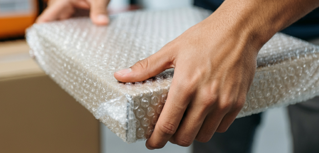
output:
{"label": "navy blue shirt visible on either side of the bare forearm", "polygon": [[[194,5],[215,11],[223,2],[223,0],[195,0]],[[319,37],[319,8],[281,32],[304,40]]]}

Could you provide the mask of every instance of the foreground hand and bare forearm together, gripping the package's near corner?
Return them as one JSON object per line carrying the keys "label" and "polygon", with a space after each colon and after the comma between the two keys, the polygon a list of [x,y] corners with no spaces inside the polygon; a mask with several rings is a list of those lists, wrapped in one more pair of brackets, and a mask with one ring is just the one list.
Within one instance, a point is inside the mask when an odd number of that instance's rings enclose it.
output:
{"label": "foreground hand and bare forearm together, gripping the package's near corner", "polygon": [[139,82],[174,68],[167,101],[146,147],[159,149],[168,141],[189,146],[225,132],[245,102],[259,49],[319,5],[307,2],[225,0],[157,53],[115,72],[121,82]]}

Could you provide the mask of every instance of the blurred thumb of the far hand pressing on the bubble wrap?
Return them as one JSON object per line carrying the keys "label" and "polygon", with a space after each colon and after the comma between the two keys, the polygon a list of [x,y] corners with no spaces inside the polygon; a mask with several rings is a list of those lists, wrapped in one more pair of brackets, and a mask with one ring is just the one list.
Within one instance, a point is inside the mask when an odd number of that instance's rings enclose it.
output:
{"label": "blurred thumb of the far hand pressing on the bubble wrap", "polygon": [[96,25],[107,25],[109,23],[106,10],[109,0],[91,0],[90,18]]}

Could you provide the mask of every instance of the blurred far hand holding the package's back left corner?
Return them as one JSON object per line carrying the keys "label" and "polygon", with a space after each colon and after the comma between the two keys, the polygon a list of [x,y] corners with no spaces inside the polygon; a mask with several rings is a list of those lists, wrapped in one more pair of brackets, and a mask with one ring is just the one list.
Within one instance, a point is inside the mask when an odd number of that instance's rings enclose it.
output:
{"label": "blurred far hand holding the package's back left corner", "polygon": [[110,0],[49,0],[48,7],[37,18],[36,23],[71,18],[76,9],[90,10],[90,18],[96,25],[109,23],[107,6]]}

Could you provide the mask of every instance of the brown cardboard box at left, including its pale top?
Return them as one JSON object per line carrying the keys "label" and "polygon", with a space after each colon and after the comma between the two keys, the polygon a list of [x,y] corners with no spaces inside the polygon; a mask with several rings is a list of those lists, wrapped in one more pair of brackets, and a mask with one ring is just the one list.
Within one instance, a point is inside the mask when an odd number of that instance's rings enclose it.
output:
{"label": "brown cardboard box at left, including its pale top", "polygon": [[99,121],[28,55],[0,43],[0,152],[99,152]]}

